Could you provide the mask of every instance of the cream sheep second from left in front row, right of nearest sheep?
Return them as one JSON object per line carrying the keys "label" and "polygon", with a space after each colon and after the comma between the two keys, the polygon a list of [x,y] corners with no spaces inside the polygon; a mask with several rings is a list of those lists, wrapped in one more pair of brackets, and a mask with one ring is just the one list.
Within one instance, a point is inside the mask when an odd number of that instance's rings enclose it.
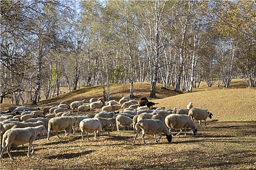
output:
{"label": "cream sheep second from left in front row, right of nearest sheep", "polygon": [[78,118],[76,117],[56,117],[52,118],[48,122],[48,137],[47,140],[50,139],[51,131],[54,131],[57,135],[58,139],[60,139],[58,132],[65,131],[65,136],[67,136],[67,132],[69,133],[71,128],[77,122]]}

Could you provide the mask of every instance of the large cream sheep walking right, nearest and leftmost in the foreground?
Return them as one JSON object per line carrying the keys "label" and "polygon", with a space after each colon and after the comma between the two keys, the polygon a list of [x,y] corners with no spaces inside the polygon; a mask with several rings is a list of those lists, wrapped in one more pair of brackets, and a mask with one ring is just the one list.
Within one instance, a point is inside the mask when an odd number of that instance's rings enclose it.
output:
{"label": "large cream sheep walking right, nearest and leftmost in the foreground", "polygon": [[9,129],[3,134],[2,138],[2,152],[0,155],[0,159],[2,158],[3,153],[7,150],[10,158],[14,160],[10,150],[11,145],[14,143],[16,145],[23,145],[29,143],[28,145],[28,154],[30,156],[30,147],[32,146],[32,154],[34,153],[35,146],[33,142],[35,141],[37,135],[39,133],[45,134],[47,131],[43,125],[37,127],[27,127],[27,128],[18,128],[18,129]]}

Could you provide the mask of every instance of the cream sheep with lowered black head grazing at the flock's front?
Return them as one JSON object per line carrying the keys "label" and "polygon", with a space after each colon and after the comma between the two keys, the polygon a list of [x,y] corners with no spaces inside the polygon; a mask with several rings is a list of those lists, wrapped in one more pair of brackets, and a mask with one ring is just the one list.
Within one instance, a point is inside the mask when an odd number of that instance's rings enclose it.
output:
{"label": "cream sheep with lowered black head grazing at the flock's front", "polygon": [[[153,119],[142,119],[139,120],[138,123],[135,125],[135,129],[137,130],[137,133],[133,140],[133,145],[135,144],[135,140],[139,134],[140,131],[142,131],[142,140],[144,144],[147,144],[145,141],[145,135],[154,135],[155,142],[158,142],[162,135],[161,133],[164,133],[167,137],[168,142],[172,141],[172,134],[169,132],[169,129],[165,126],[165,124],[161,120],[153,120]],[[157,140],[157,135],[159,136]]]}

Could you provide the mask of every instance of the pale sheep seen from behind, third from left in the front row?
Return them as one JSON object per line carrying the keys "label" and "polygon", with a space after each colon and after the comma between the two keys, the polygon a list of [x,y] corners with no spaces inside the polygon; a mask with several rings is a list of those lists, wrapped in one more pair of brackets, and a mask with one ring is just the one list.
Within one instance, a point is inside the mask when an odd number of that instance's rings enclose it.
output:
{"label": "pale sheep seen from behind, third from left in the front row", "polygon": [[80,121],[79,127],[82,131],[82,133],[81,133],[82,140],[84,140],[83,133],[86,132],[86,137],[87,137],[87,140],[89,140],[89,141],[90,141],[90,139],[88,137],[88,134],[90,132],[94,132],[94,134],[95,134],[94,139],[96,140],[96,135],[98,134],[98,132],[100,132],[102,130],[101,121],[98,118],[83,119],[82,121]]}

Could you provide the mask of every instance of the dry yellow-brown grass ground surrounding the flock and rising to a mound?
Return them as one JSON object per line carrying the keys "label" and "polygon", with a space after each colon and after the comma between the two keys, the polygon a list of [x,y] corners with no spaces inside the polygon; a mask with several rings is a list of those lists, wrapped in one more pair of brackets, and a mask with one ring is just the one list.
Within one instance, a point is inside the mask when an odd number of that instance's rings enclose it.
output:
{"label": "dry yellow-brown grass ground surrounding the flock and rising to a mound", "polygon": [[[163,137],[158,143],[153,136],[146,135],[147,145],[138,136],[132,145],[134,131],[114,131],[104,134],[97,140],[93,133],[91,141],[82,141],[80,133],[67,137],[60,134],[61,140],[52,136],[38,138],[35,153],[26,157],[27,145],[13,146],[11,161],[7,153],[1,159],[1,170],[253,170],[256,169],[256,90],[244,86],[243,80],[232,80],[231,88],[207,88],[202,85],[193,93],[176,93],[172,87],[167,90],[157,86],[156,106],[185,108],[189,102],[194,107],[206,108],[214,115],[203,123],[197,136],[173,132],[173,141],[168,143]],[[149,96],[149,84],[134,85],[138,100]],[[242,88],[240,88],[242,87]],[[111,85],[111,100],[129,96],[129,85]],[[82,88],[64,93],[54,99],[58,102],[100,97],[101,86]],[[50,99],[50,100],[54,100]],[[49,103],[48,105],[52,105]],[[43,104],[46,105],[46,104]],[[40,105],[43,106],[43,105]],[[197,124],[197,123],[196,123]]]}

